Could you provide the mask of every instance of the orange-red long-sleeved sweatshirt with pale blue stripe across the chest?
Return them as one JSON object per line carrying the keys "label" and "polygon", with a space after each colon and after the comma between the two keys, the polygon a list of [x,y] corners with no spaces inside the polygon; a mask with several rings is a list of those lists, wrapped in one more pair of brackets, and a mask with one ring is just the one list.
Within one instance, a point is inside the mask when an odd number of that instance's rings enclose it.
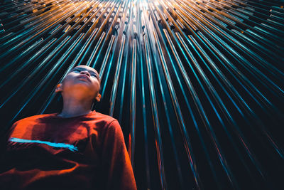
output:
{"label": "orange-red long-sleeved sweatshirt with pale blue stripe across the chest", "polygon": [[119,122],[95,111],[14,123],[0,173],[5,190],[137,189]]}

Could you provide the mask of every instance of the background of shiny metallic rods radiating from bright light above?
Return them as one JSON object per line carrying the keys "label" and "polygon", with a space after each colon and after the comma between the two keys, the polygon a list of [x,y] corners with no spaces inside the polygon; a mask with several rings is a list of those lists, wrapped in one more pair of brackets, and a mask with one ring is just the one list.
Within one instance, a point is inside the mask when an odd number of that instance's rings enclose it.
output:
{"label": "background of shiny metallic rods radiating from bright light above", "polygon": [[[102,79],[138,189],[281,189],[283,1],[0,3],[1,132],[56,112],[76,65]],[[282,186],[283,188],[283,186]]]}

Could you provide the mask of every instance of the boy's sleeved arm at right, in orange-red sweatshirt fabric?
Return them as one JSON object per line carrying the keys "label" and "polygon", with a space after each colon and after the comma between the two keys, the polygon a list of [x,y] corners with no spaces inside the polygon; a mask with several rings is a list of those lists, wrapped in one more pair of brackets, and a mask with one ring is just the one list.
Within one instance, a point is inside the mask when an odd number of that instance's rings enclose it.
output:
{"label": "boy's sleeved arm at right, in orange-red sweatshirt fabric", "polygon": [[107,189],[136,190],[136,181],[119,122],[112,121],[106,130],[102,144],[102,162],[107,171]]}

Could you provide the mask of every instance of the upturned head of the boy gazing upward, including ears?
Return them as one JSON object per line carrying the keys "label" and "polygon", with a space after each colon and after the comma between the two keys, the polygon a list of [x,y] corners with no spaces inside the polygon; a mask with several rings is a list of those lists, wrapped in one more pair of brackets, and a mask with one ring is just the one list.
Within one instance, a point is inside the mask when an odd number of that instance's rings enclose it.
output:
{"label": "upturned head of the boy gazing upward, including ears", "polygon": [[65,76],[55,93],[61,92],[63,98],[68,95],[80,95],[88,100],[95,98],[99,102],[101,98],[99,86],[100,80],[97,70],[86,65],[79,65]]}

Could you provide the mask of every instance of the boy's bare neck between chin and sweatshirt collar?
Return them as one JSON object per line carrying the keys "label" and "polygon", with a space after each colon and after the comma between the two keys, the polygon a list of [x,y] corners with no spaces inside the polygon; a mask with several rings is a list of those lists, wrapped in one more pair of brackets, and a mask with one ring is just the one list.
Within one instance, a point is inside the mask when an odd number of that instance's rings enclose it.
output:
{"label": "boy's bare neck between chin and sweatshirt collar", "polygon": [[92,112],[92,100],[77,100],[72,97],[63,100],[63,109],[58,116],[75,117]]}

